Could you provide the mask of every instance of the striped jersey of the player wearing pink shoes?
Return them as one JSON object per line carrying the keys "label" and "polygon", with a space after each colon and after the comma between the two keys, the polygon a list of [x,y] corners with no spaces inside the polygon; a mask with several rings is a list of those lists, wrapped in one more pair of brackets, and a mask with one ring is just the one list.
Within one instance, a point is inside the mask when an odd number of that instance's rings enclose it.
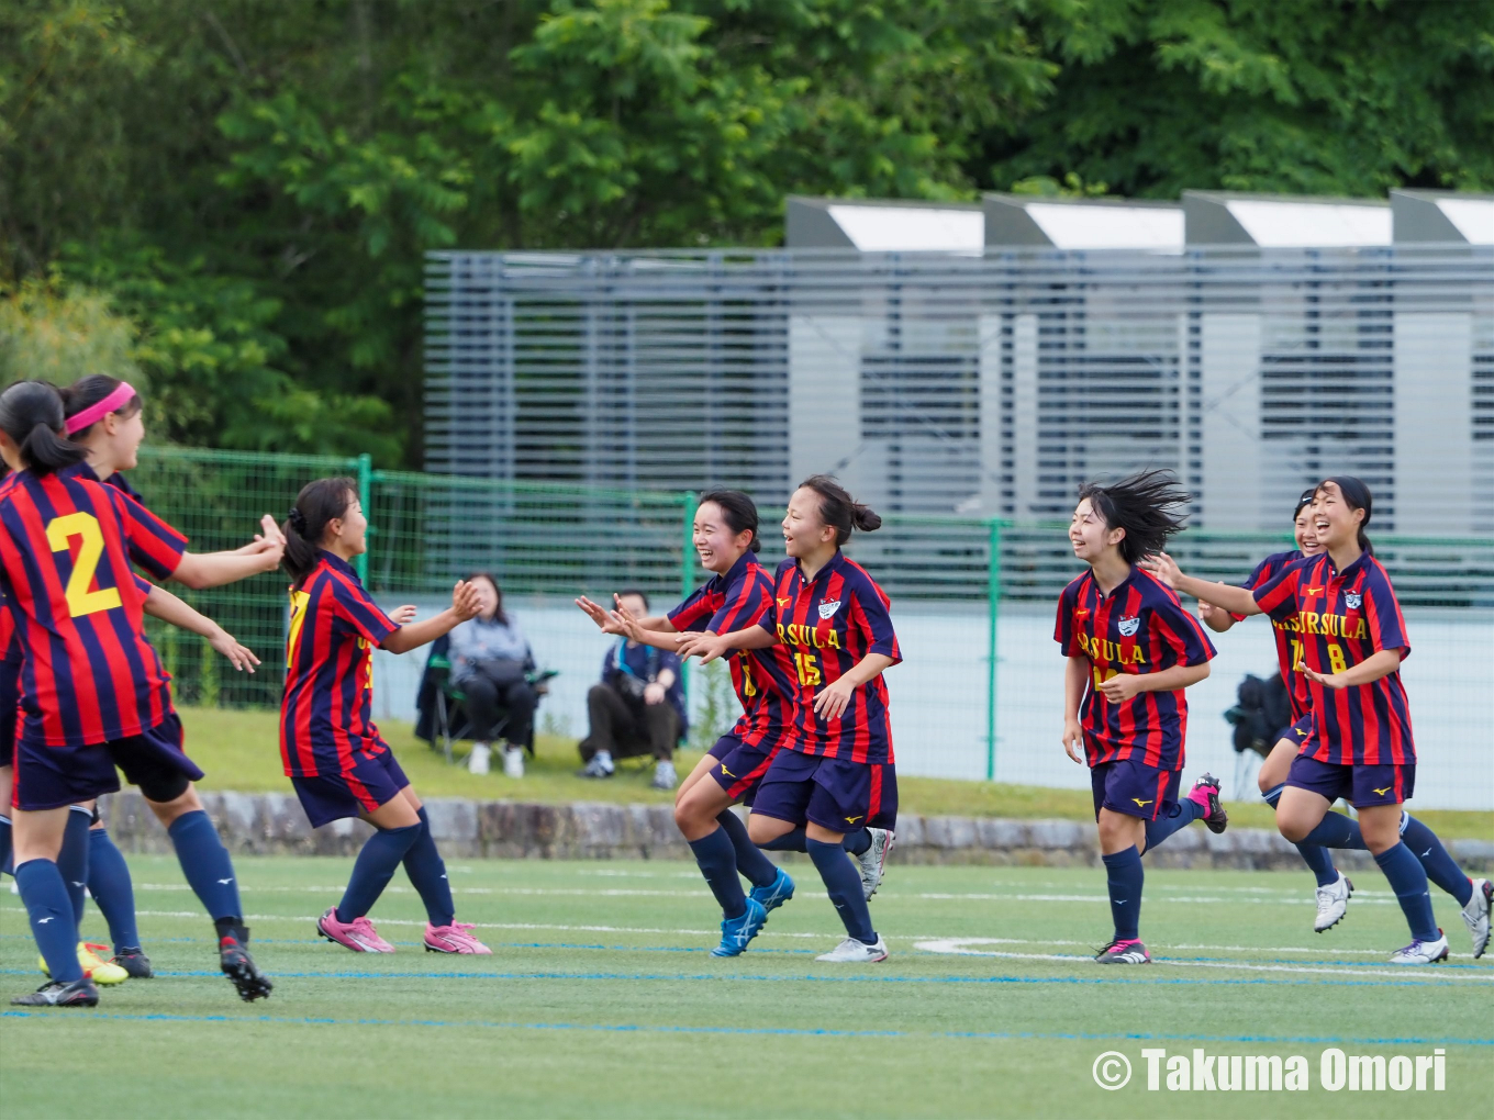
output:
{"label": "striped jersey of the player wearing pink shoes", "polygon": [[290,591],[281,762],[293,778],[353,769],[354,751],[382,754],[374,726],[374,647],[399,627],[332,553]]}

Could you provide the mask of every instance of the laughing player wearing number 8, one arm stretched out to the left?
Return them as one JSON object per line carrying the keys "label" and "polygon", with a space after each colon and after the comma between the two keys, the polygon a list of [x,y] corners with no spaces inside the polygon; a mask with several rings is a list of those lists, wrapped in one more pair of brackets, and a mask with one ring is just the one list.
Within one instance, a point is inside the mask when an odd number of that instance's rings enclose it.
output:
{"label": "laughing player wearing number 8, one arm stretched out to the left", "polygon": [[[1458,899],[1473,956],[1481,957],[1490,941],[1494,887],[1464,875],[1436,833],[1401,805],[1416,780],[1410,709],[1400,679],[1410,642],[1389,576],[1364,533],[1371,512],[1370,490],[1358,478],[1318,484],[1312,517],[1324,551],[1288,564],[1253,591],[1183,576],[1165,556],[1159,563],[1186,594],[1297,627],[1313,726],[1277,803],[1282,835],[1297,844],[1369,848],[1412,930],[1412,944],[1392,963],[1424,965],[1448,956],[1428,878]],[[1340,796],[1360,811],[1358,823],[1330,812]]]}

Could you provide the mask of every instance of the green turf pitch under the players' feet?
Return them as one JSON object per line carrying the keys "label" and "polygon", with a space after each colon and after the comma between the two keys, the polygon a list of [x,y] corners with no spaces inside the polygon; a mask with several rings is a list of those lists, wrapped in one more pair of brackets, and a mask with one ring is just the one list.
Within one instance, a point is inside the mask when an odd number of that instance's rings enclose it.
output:
{"label": "green turf pitch under the players' feet", "polygon": [[[820,965],[840,926],[807,863],[751,951],[717,960],[711,899],[683,863],[453,862],[459,917],[493,957],[420,951],[399,877],[374,917],[391,957],[311,936],[350,860],[244,859],[272,999],[239,1004],[212,930],[169,857],[133,857],[158,978],[96,1011],[0,1008],[0,1111],[33,1116],[1484,1117],[1494,1090],[1494,960],[1397,971],[1406,941],[1383,881],[1312,933],[1301,874],[1153,871],[1143,933],[1156,962],[1100,969],[1103,874],[899,868],[872,902],[892,957]],[[102,939],[90,908],[85,932]],[[968,954],[959,954],[964,950]],[[19,902],[0,895],[0,992],[37,981]],[[1309,1092],[1147,1092],[1144,1047],[1301,1054]],[[1337,1092],[1327,1047],[1446,1050],[1446,1090]],[[1104,1092],[1119,1051],[1134,1077]],[[67,1092],[54,1081],[67,1072]],[[1165,1068],[1164,1068],[1165,1075]]]}

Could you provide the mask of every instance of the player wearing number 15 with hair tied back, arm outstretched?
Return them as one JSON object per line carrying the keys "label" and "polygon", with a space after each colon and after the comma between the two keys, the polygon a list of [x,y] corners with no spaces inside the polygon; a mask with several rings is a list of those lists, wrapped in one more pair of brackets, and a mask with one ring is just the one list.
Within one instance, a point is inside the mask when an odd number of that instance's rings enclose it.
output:
{"label": "player wearing number 15 with hair tied back, arm outstretched", "polygon": [[[772,647],[795,688],[793,726],[757,787],[747,833],[772,847],[804,830],[846,939],[819,960],[887,959],[871,924],[868,892],[846,859],[849,832],[883,827],[898,814],[898,777],[881,673],[902,660],[887,614],[889,599],[861,564],[841,553],[853,529],[881,526],[828,475],[799,484],[783,518],[789,559],[774,573],[774,600],[756,626],[705,633],[680,653],[701,663],[732,650]],[[884,854],[884,853],[883,853]]]}

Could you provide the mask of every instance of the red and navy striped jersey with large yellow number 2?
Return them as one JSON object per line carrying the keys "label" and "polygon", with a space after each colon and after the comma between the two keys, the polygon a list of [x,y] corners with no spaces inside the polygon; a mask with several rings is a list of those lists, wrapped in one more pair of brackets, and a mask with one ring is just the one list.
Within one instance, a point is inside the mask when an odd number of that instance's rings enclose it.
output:
{"label": "red and navy striped jersey with large yellow number 2", "polygon": [[169,676],[142,630],[187,541],[91,472],[22,470],[0,496],[0,584],[22,647],[21,738],[84,747],[154,727]]}

